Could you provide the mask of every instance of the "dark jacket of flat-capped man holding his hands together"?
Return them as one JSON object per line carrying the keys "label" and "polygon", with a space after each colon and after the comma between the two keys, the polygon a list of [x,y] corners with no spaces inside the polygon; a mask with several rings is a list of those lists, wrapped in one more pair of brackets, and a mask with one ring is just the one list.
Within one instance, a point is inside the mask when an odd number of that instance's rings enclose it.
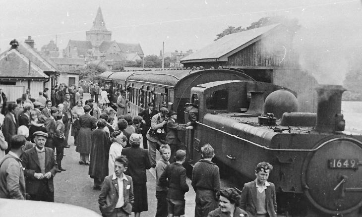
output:
{"label": "dark jacket of flat-capped man holding his hands together", "polygon": [[[34,173],[40,173],[40,163],[38,153],[34,148],[26,150],[21,160],[23,167],[25,167],[24,175],[26,177],[26,189],[29,194],[37,194],[38,188],[43,184],[43,180],[38,180],[34,177]],[[48,187],[51,192],[54,192],[53,178],[58,171],[58,164],[54,159],[54,151],[51,148],[45,147],[45,172],[51,172],[52,177],[48,180]]]}

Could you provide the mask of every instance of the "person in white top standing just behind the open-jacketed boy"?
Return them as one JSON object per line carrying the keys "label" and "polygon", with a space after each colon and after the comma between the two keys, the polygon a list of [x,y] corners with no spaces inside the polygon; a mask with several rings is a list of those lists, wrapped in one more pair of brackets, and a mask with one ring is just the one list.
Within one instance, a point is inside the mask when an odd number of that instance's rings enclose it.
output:
{"label": "person in white top standing just behind the open-jacketed boy", "polygon": [[112,175],[115,171],[116,158],[121,156],[122,149],[127,144],[127,137],[121,131],[114,131],[111,134],[111,148],[108,158],[108,175]]}

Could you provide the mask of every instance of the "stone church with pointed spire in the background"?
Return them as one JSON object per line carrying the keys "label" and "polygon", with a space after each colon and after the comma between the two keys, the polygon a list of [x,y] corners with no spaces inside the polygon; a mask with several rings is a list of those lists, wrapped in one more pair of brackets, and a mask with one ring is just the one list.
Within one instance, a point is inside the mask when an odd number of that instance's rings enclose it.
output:
{"label": "stone church with pointed spire in the background", "polygon": [[86,41],[69,40],[63,50],[66,58],[84,58],[87,62],[115,62],[141,60],[144,56],[140,44],[112,41],[112,32],[106,28],[101,8],[98,8],[92,28],[86,32]]}

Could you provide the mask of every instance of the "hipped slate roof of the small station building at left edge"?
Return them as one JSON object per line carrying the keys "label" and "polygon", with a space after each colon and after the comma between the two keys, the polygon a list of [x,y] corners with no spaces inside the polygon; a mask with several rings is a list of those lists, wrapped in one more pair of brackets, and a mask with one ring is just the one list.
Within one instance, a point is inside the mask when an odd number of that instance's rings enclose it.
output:
{"label": "hipped slate roof of the small station building at left edge", "polygon": [[[30,69],[30,70],[29,70]],[[0,77],[49,78],[36,63],[15,49],[0,54]]]}

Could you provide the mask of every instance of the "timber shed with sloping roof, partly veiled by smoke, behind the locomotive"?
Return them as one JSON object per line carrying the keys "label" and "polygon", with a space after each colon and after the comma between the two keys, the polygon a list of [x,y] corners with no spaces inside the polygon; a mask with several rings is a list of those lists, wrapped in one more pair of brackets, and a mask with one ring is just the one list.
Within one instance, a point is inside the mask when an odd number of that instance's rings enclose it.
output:
{"label": "timber shed with sloping roof, partly veiled by smoke, behind the locomotive", "polygon": [[[183,57],[183,67],[236,68],[257,81],[298,93],[299,111],[316,111],[315,78],[303,72],[293,52],[294,31],[273,24],[226,35],[198,52]],[[310,99],[313,102],[310,102]]]}

